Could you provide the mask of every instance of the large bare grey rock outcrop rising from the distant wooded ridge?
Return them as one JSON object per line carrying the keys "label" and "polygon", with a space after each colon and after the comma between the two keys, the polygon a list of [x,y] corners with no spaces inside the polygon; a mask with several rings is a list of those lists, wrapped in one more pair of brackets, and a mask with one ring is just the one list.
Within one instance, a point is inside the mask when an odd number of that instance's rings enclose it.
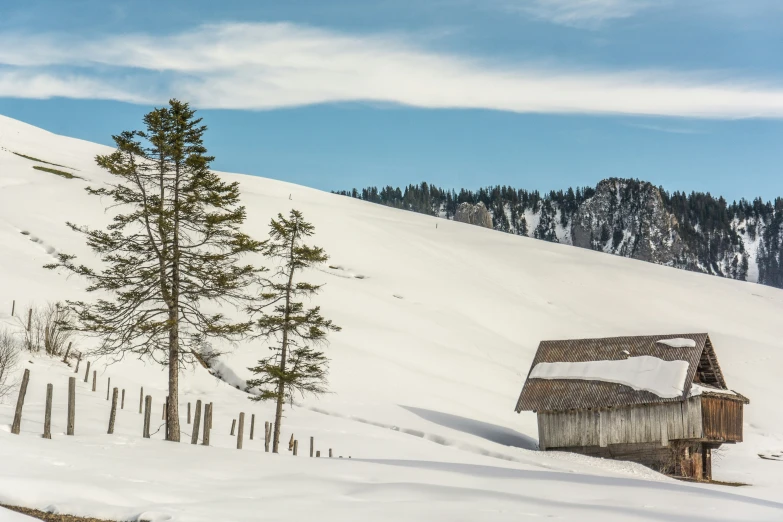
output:
{"label": "large bare grey rock outcrop rising from the distant wooded ridge", "polygon": [[678,264],[684,250],[658,188],[620,179],[598,184],[574,214],[571,238],[574,246],[664,265]]}

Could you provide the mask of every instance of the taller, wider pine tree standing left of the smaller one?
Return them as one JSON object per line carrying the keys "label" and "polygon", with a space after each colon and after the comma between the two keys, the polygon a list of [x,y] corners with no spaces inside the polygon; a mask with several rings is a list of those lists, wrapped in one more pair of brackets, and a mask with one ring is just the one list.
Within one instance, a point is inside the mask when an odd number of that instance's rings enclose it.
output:
{"label": "taller, wider pine tree standing left of the smaller one", "polygon": [[231,322],[215,306],[250,299],[259,270],[240,265],[261,243],[240,231],[245,209],[237,183],[225,183],[209,165],[203,145],[206,127],[187,103],[144,117],[145,131],[114,136],[117,150],[97,156],[116,181],[88,188],[111,202],[117,213],[106,230],[68,223],[86,236],[102,261],[96,270],[60,254],[56,264],[87,279],[89,292],[108,293],[92,303],[70,301],[73,328],[101,339],[95,353],[135,355],[168,366],[166,439],[180,440],[178,375],[204,362],[210,338],[238,339],[250,322]]}

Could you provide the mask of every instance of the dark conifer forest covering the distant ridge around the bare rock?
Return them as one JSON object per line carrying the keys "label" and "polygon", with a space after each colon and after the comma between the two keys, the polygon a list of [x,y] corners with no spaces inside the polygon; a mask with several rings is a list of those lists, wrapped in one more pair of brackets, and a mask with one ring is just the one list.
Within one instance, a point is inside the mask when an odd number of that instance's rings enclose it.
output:
{"label": "dark conifer forest covering the distant ridge around the bare rock", "polygon": [[[625,187],[623,197],[630,200],[652,187],[650,183],[635,179],[621,181]],[[763,234],[762,248],[758,253],[759,281],[783,287],[780,256],[783,246],[783,198],[776,198],[772,202],[756,198],[753,201],[741,199],[728,203],[723,197],[715,197],[710,193],[668,192],[663,187],[657,187],[657,190],[664,209],[677,219],[680,237],[692,246],[694,252],[698,252],[699,258],[705,263],[716,259],[716,252],[724,252],[727,248],[744,251],[740,234],[746,234],[750,241],[756,241],[757,235]],[[551,232],[529,231],[522,215],[526,211],[551,218],[558,215],[560,224],[566,227],[582,204],[595,195],[596,189],[576,187],[542,194],[537,190],[496,185],[457,191],[422,182],[405,188],[387,185],[334,193],[447,219],[453,219],[461,203],[475,205],[481,202],[491,213],[493,228],[496,230],[557,241]],[[744,275],[739,278],[744,279]]]}

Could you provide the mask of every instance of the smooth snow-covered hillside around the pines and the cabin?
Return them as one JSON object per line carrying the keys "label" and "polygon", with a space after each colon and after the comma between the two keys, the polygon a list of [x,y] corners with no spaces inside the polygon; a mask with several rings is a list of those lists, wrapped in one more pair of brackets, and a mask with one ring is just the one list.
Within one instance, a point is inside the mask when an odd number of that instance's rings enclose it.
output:
{"label": "smooth snow-covered hillside around the pines and the cabin", "polygon": [[[17,324],[12,300],[22,315],[30,303],[85,297],[83,281],[42,265],[57,251],[90,260],[64,223],[107,221],[83,190],[107,179],[92,159],[107,150],[0,116],[0,322]],[[42,164],[13,152],[84,180],[34,170]],[[73,370],[25,354],[21,435],[10,433],[15,394],[0,404],[0,503],[153,521],[783,520],[783,462],[757,456],[783,450],[780,290],[226,178],[241,183],[249,232],[265,237],[269,219],[294,207],[331,255],[330,267],[307,277],[326,284],[317,301],[343,331],[328,348],[333,393],[287,411],[283,437],[296,435],[299,456],[264,453],[271,405],[201,368],[182,378],[183,440],[184,404],[212,401],[212,447],[167,443],[162,431],[141,438],[139,387],[154,398],[154,431],[166,379],[133,360],[93,360],[95,393],[82,362],[76,436],[66,437]],[[750,486],[681,483],[634,464],[535,450],[534,414],[513,408],[540,340],[686,332],[709,332],[729,387],[751,400],[745,442],[714,462],[716,479]],[[224,378],[241,385],[264,353],[258,343],[234,347],[221,361]],[[107,378],[127,394],[114,435]],[[40,437],[47,383],[52,440]],[[241,451],[229,435],[240,411],[248,415]],[[311,436],[320,459],[307,456]],[[22,519],[0,511],[0,520]]]}

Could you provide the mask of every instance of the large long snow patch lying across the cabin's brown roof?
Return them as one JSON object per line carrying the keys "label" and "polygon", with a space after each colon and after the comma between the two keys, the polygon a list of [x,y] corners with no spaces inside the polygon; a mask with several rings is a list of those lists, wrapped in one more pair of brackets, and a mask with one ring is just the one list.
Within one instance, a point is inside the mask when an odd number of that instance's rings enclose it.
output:
{"label": "large long snow patch lying across the cabin's brown roof", "polygon": [[531,379],[576,379],[623,384],[667,399],[679,397],[688,375],[686,361],[664,361],[643,355],[619,361],[538,363]]}

